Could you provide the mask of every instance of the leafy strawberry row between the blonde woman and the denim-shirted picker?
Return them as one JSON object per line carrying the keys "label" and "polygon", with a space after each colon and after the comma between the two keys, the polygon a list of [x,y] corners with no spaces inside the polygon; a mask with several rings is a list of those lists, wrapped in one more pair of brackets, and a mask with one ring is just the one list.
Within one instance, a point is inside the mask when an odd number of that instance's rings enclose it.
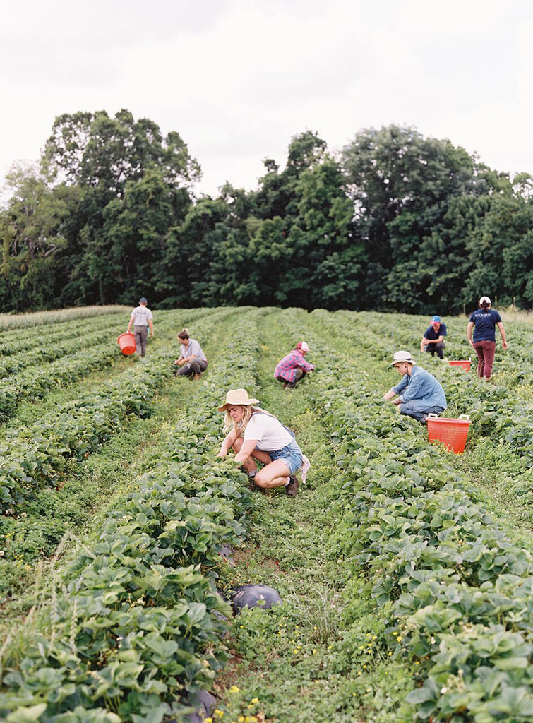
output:
{"label": "leafy strawberry row between the blonde woman and the denim-shirted picker", "polygon": [[422,688],[408,698],[420,718],[530,719],[531,555],[472,502],[466,478],[419,428],[378,401],[375,380],[354,374],[340,347],[320,350],[323,370],[307,387],[345,479],[332,500],[343,518],[332,553],[367,576],[388,619],[384,643],[421,664]]}

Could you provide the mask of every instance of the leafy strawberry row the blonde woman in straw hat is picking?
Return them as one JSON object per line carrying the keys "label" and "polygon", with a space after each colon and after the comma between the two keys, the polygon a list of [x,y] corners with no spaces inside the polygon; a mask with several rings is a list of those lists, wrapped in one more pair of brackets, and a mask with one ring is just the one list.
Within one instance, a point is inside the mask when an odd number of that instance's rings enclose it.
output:
{"label": "leafy strawberry row the blonde woman in straw hat is picking", "polygon": [[202,568],[213,574],[251,503],[246,477],[214,457],[215,405],[229,385],[254,382],[258,317],[241,313],[168,449],[154,455],[101,542],[67,570],[68,591],[40,612],[38,634],[6,646],[0,714],[8,721],[184,721],[188,696],[210,685],[229,610]]}

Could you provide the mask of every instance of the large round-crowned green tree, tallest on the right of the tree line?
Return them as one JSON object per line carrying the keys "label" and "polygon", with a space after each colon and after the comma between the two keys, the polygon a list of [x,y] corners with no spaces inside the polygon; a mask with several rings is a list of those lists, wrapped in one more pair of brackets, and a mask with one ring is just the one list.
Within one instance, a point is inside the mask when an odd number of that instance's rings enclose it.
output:
{"label": "large round-crowned green tree, tallest on the right of the tree line", "polygon": [[367,250],[364,306],[429,303],[432,267],[421,268],[417,254],[453,198],[487,192],[486,176],[464,149],[398,126],[358,133],[344,148],[343,166]]}

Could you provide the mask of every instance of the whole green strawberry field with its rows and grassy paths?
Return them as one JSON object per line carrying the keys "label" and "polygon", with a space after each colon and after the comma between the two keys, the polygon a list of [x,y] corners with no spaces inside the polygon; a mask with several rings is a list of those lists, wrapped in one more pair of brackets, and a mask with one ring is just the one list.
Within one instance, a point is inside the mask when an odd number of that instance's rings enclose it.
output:
{"label": "whole green strawberry field with its rows and grassy paths", "polygon": [[[116,345],[128,314],[0,331],[0,718],[185,722],[208,689],[208,722],[533,720],[530,322],[482,383],[419,352],[425,317],[154,312],[141,362]],[[473,359],[445,321],[445,356]],[[286,391],[301,339],[316,372]],[[463,455],[382,401],[400,348],[469,414]],[[297,497],[216,458],[236,387],[297,433]],[[283,602],[233,617],[243,583]]]}

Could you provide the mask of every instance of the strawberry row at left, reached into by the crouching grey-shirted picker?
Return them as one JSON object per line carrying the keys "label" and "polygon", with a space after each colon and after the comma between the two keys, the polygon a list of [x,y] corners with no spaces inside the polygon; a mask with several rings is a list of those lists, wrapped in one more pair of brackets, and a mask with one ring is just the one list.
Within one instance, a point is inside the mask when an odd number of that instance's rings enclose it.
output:
{"label": "strawberry row at left, reached into by the crouching grey-shirted picker", "polygon": [[[229,314],[216,312],[206,317],[204,325],[217,324]],[[172,348],[150,354],[150,364],[135,364],[116,380],[54,409],[1,442],[0,510],[13,510],[35,485],[55,487],[70,458],[88,456],[116,434],[130,414],[150,414],[155,391],[171,379],[174,358]]]}

